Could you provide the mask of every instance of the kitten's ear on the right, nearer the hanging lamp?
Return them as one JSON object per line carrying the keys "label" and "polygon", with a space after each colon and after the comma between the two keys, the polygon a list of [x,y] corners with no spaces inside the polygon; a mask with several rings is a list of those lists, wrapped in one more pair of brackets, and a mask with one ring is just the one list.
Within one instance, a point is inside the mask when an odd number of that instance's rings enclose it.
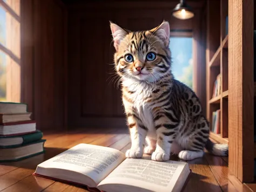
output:
{"label": "kitten's ear on the right, nearer the hanging lamp", "polygon": [[170,39],[170,25],[169,22],[163,21],[159,26],[156,28],[150,30],[151,32],[154,32],[154,35],[158,36],[161,40],[163,40],[164,45],[169,45],[169,39]]}

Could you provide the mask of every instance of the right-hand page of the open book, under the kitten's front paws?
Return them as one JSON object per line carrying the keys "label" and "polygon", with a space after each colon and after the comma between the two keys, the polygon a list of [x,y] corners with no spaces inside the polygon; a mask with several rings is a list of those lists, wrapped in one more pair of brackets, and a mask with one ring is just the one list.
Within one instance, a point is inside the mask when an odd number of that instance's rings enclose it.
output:
{"label": "right-hand page of the open book, under the kitten's front paws", "polygon": [[171,191],[186,166],[185,162],[156,162],[145,159],[126,159],[102,182],[104,184],[125,184],[150,191]]}

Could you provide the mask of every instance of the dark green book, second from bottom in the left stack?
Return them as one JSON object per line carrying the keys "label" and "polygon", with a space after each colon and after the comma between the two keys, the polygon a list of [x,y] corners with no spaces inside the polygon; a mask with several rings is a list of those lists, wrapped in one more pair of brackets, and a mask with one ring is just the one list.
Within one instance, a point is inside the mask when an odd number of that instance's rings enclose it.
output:
{"label": "dark green book, second from bottom in the left stack", "polygon": [[26,145],[41,140],[43,133],[37,130],[35,133],[14,136],[0,136],[0,148],[12,148]]}

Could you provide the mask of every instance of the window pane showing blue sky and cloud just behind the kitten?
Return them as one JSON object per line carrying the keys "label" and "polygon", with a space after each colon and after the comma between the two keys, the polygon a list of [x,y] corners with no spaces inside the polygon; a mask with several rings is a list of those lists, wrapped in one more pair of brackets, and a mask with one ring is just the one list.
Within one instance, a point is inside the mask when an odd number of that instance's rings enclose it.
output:
{"label": "window pane showing blue sky and cloud just behind the kitten", "polygon": [[173,76],[193,88],[192,37],[171,37]]}

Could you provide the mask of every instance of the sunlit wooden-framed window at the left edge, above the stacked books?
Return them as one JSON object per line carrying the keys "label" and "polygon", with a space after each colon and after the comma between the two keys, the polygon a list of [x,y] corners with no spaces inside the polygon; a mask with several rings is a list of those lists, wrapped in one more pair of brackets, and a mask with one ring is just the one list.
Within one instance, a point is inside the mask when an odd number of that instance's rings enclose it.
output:
{"label": "sunlit wooden-framed window at the left edge, above the stacked books", "polygon": [[21,100],[20,0],[0,0],[0,101]]}

